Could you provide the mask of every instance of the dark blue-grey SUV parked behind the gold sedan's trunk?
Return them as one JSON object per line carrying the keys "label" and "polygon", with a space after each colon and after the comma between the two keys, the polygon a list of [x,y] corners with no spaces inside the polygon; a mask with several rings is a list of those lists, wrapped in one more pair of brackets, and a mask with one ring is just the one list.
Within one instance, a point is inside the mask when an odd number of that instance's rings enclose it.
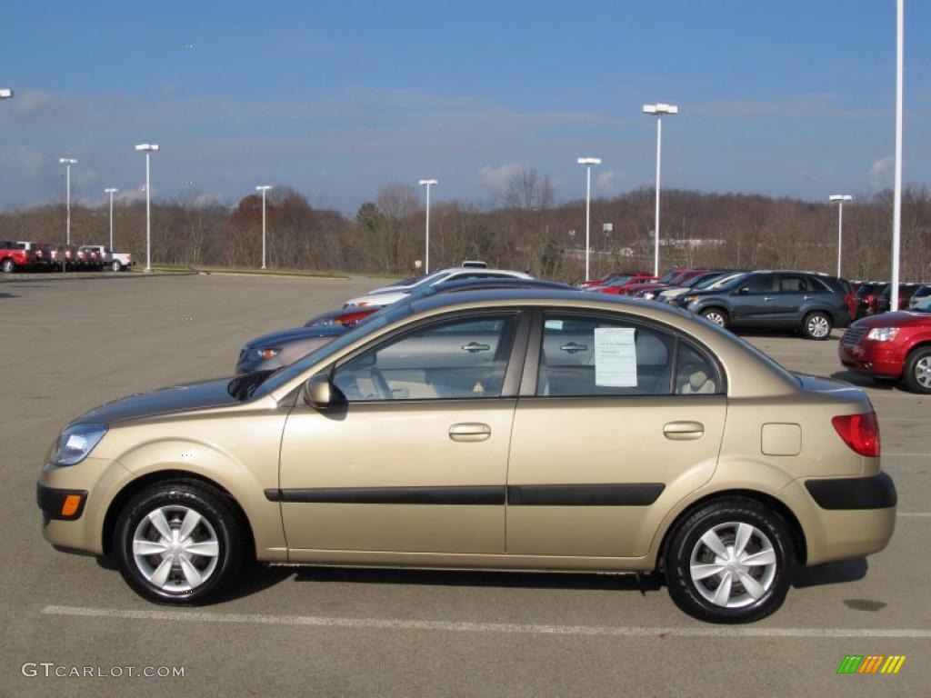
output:
{"label": "dark blue-grey SUV parked behind the gold sedan's trunk", "polygon": [[683,296],[688,310],[722,328],[795,329],[810,340],[850,324],[853,293],[834,276],[797,271],[755,271],[716,289]]}

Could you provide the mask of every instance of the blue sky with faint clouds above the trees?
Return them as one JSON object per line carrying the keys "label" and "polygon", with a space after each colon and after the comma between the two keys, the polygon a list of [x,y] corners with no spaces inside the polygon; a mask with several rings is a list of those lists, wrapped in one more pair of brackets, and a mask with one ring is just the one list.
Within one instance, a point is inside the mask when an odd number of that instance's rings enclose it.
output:
{"label": "blue sky with faint clouds above the trees", "polygon": [[[823,200],[891,186],[895,0],[8,3],[0,208],[289,185],[352,214],[391,182],[493,205],[663,187]],[[906,0],[904,180],[931,182],[931,3]],[[423,194],[422,194],[423,195]]]}

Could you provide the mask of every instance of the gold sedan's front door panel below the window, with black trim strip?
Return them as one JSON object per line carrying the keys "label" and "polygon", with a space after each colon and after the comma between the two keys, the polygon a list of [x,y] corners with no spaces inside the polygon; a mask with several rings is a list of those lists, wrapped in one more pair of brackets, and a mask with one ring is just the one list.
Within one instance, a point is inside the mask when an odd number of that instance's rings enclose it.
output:
{"label": "gold sedan's front door panel below the window, with black trim strip", "polygon": [[[328,416],[299,404],[281,443],[289,548],[503,553],[514,407],[371,402]],[[452,427],[477,424],[487,437],[452,438]]]}

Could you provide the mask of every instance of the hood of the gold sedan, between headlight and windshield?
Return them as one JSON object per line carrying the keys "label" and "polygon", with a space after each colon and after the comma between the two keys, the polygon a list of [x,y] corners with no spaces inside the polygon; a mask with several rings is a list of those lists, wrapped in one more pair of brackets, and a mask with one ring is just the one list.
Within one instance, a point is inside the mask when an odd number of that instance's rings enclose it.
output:
{"label": "hood of the gold sedan, between headlight and windshield", "polygon": [[230,380],[222,378],[201,383],[171,385],[151,393],[124,397],[91,409],[73,423],[111,424],[152,417],[156,414],[237,404],[239,400],[231,396],[226,389]]}

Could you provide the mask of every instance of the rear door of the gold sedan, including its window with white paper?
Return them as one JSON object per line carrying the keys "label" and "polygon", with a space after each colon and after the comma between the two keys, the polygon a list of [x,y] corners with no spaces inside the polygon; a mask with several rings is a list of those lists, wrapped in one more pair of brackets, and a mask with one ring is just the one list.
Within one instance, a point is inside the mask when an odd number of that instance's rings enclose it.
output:
{"label": "rear door of the gold sedan, including its window with white paper", "polygon": [[640,557],[708,481],[722,371],[694,342],[623,315],[547,312],[528,344],[507,473],[507,552]]}

